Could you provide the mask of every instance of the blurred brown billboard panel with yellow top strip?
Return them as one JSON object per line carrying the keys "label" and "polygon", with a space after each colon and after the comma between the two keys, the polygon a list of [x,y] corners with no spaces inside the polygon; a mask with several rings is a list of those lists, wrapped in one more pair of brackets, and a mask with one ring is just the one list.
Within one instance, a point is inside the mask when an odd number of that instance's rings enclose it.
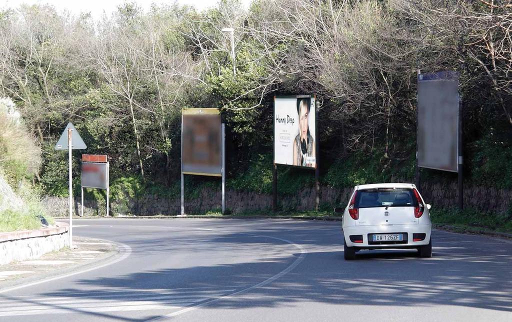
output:
{"label": "blurred brown billboard panel with yellow top strip", "polygon": [[219,110],[186,109],[182,117],[182,172],[221,176],[222,125]]}

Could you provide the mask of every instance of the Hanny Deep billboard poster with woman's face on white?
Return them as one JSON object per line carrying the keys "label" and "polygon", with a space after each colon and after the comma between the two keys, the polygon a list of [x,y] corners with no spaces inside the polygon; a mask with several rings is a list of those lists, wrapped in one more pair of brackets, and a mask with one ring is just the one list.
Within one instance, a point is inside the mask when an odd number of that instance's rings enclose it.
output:
{"label": "Hanny Deep billboard poster with woman's face on white", "polygon": [[316,168],[314,95],[274,98],[274,163]]}

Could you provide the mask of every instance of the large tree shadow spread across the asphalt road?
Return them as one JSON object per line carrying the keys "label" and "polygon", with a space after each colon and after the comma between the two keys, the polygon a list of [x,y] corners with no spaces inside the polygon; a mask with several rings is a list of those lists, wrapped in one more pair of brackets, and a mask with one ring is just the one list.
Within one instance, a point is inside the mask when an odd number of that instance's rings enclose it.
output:
{"label": "large tree shadow spread across the asphalt road", "polygon": [[[461,306],[512,312],[512,254],[509,245],[487,241],[462,241],[455,234],[436,232],[434,256],[420,259],[415,250],[360,251],[357,260],[344,261],[340,235],[318,239],[309,232],[296,233],[275,229],[240,233],[175,236],[152,240],[144,254],[169,256],[179,253],[179,263],[194,256],[212,253],[233,256],[237,250],[259,247],[264,254],[272,247],[286,247],[280,256],[262,256],[259,260],[208,266],[144,270],[116,277],[83,279],[80,289],[48,292],[44,296],[129,300],[151,300],[161,305],[194,306],[212,298],[229,295],[256,285],[286,269],[301,253],[291,245],[250,234],[275,234],[305,245],[304,261],[288,274],[247,293],[224,298],[212,309],[280,307],[300,302],[367,306]],[[137,250],[137,241],[134,242]],[[142,241],[140,241],[142,247]],[[328,245],[328,246],[327,246]],[[183,251],[188,250],[187,255]],[[269,252],[276,253],[279,249]],[[134,255],[141,256],[141,251]],[[221,261],[220,259],[219,261]],[[222,262],[222,261],[221,261]],[[174,265],[173,265],[174,266]],[[179,265],[177,265],[179,266]],[[81,289],[94,289],[93,293]],[[188,299],[188,302],[187,300]],[[119,318],[122,319],[122,318]]]}

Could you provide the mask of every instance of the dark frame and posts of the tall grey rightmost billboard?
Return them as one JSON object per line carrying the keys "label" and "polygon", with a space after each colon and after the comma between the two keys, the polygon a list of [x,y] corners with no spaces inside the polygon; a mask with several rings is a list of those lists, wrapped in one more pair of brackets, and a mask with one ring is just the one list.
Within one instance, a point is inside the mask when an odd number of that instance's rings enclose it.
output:
{"label": "dark frame and posts of the tall grey rightmost billboard", "polygon": [[[425,79],[425,77],[427,79]],[[424,73],[421,74],[421,70],[417,70],[416,75],[416,188],[421,192],[421,168],[428,168],[434,170],[447,171],[458,174],[457,182],[457,205],[459,209],[464,209],[464,172],[463,172],[463,104],[460,94],[457,94],[457,170],[446,170],[436,167],[420,166],[419,165],[419,126],[418,126],[418,85],[420,81],[435,81],[437,80],[453,80],[454,78],[459,79],[459,73],[454,71],[442,71],[437,73]],[[460,83],[459,83],[460,84]]]}

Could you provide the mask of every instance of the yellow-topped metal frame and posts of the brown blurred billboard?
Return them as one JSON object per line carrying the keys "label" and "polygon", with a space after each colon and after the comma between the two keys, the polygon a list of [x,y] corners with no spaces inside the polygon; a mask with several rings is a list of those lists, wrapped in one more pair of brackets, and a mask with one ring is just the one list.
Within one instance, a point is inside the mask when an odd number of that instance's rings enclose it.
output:
{"label": "yellow-topped metal frame and posts of the brown blurred billboard", "polygon": [[[221,116],[221,173],[199,173],[193,171],[183,171],[183,115],[220,115]],[[217,108],[192,108],[181,110],[181,209],[180,216],[185,214],[185,175],[208,176],[222,178],[222,214],[226,211],[226,135],[225,125],[222,123],[221,111]]]}

